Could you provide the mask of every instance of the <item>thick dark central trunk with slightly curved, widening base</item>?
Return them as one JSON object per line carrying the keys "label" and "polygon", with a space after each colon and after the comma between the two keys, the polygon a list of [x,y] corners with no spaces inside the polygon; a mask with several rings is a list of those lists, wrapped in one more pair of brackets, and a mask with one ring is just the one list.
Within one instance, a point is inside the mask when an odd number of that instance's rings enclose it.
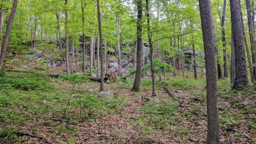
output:
{"label": "thick dark central trunk with slightly curved, widening base", "polygon": [[137,15],[137,65],[136,65],[136,74],[135,80],[132,87],[133,91],[140,90],[140,81],[142,73],[142,5],[141,0],[137,1],[138,15]]}

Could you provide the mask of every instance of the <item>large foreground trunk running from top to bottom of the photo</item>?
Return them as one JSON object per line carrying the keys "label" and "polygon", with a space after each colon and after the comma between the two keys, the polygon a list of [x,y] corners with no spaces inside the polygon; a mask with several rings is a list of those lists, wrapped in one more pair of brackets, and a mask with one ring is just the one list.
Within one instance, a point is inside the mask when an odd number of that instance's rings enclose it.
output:
{"label": "large foreground trunk running from top to bottom of the photo", "polygon": [[211,28],[211,8],[208,0],[199,0],[202,23],[206,68],[206,99],[207,99],[207,144],[220,143],[220,125],[217,96],[217,76],[214,42]]}

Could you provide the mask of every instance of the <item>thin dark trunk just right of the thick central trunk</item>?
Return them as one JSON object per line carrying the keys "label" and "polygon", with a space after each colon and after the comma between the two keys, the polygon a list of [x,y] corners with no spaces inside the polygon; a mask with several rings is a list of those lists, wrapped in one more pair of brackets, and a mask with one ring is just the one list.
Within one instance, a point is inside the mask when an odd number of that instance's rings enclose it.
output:
{"label": "thin dark trunk just right of the thick central trunk", "polygon": [[152,78],[152,96],[156,95],[156,82],[155,82],[155,69],[154,69],[154,56],[153,56],[153,45],[151,42],[151,31],[150,31],[150,18],[149,18],[149,8],[148,0],[146,0],[146,9],[147,9],[147,23],[148,23],[148,43],[149,43],[149,58],[150,58],[150,67],[151,67],[151,78]]}

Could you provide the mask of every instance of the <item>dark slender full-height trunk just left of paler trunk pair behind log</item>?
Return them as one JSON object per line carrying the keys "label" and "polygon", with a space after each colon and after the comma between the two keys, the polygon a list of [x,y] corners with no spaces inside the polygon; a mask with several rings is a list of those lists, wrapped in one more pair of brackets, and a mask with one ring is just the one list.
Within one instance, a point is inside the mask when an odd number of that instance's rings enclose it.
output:
{"label": "dark slender full-height trunk just left of paler trunk pair behind log", "polygon": [[[84,34],[84,0],[82,1],[82,20],[83,20],[83,72],[85,73],[85,68],[86,68],[86,62],[85,62],[85,57],[87,58],[87,55],[85,55],[85,34]],[[87,49],[86,49],[87,52]]]}

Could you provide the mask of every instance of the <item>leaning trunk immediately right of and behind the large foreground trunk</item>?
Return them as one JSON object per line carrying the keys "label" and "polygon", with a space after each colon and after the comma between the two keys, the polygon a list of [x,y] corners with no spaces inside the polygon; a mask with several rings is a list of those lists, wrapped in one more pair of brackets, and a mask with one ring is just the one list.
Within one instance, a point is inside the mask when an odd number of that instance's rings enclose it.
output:
{"label": "leaning trunk immediately right of and behind the large foreground trunk", "polygon": [[217,35],[215,33],[215,26],[214,26],[214,21],[213,21],[213,16],[212,16],[212,4],[211,1],[209,1],[209,6],[210,6],[210,16],[211,16],[211,26],[212,26],[212,32],[213,32],[213,42],[214,42],[214,47],[215,47],[215,52],[217,56],[217,69],[218,69],[218,78],[223,78],[222,75],[222,69],[221,69],[221,64],[220,64],[220,58],[218,57],[220,55],[220,49],[216,44],[218,43],[217,41]]}

